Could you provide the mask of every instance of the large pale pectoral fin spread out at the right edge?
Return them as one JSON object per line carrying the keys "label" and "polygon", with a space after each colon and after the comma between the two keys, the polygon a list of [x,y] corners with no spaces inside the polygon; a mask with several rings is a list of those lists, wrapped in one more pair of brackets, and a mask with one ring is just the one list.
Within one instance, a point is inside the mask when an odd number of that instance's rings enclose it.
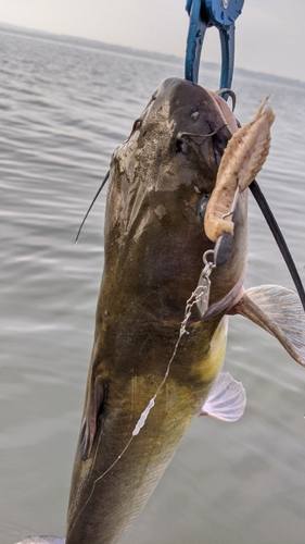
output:
{"label": "large pale pectoral fin spread out at the right edge", "polygon": [[305,366],[305,313],[294,290],[279,285],[252,287],[232,310],[272,334],[296,362]]}

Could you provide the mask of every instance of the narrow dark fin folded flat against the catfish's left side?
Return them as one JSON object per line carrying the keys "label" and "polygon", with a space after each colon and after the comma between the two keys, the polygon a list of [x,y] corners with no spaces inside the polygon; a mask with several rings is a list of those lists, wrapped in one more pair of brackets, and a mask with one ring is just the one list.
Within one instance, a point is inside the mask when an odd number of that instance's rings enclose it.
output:
{"label": "narrow dark fin folded flat against the catfish's left side", "polygon": [[88,459],[90,455],[97,432],[98,418],[103,411],[105,396],[106,386],[99,376],[90,386],[80,430],[79,453],[82,460]]}

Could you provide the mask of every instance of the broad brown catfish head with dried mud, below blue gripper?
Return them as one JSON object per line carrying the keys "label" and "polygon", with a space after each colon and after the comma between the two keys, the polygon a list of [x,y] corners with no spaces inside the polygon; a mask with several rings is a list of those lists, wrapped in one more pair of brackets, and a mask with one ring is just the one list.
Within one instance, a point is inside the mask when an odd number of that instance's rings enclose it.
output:
{"label": "broad brown catfish head with dried mud, below blue gripper", "polygon": [[[152,304],[160,308],[169,304],[171,311],[176,305],[181,314],[196,286],[202,257],[214,248],[204,232],[202,210],[237,128],[231,110],[214,92],[178,78],[157,88],[112,158],[105,218],[107,277],[110,269],[117,277],[118,269],[124,273],[128,264],[135,292],[145,282],[150,293],[157,293]],[[234,224],[232,257],[211,276],[212,304],[233,288],[245,268],[245,194]]]}

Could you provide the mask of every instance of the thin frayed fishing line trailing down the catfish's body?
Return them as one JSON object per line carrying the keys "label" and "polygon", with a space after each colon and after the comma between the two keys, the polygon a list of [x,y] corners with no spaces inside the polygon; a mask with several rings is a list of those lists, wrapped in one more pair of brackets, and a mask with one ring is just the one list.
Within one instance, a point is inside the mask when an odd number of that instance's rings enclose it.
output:
{"label": "thin frayed fishing line trailing down the catfish's body", "polygon": [[[119,459],[124,456],[124,454],[126,453],[126,450],[130,446],[130,444],[131,444],[132,440],[135,438],[135,436],[137,436],[137,434],[139,434],[139,432],[141,431],[141,429],[144,426],[145,421],[148,419],[148,416],[149,416],[151,409],[154,407],[155,399],[156,399],[160,391],[162,390],[162,387],[164,386],[164,384],[165,384],[165,382],[166,382],[166,380],[168,378],[169,370],[170,370],[170,367],[171,367],[171,362],[174,361],[174,359],[175,359],[175,357],[177,355],[177,349],[179,347],[181,338],[182,338],[183,334],[189,334],[189,332],[187,331],[187,323],[188,323],[188,320],[189,320],[189,318],[191,316],[192,307],[194,305],[199,304],[204,295],[205,294],[204,294],[204,292],[202,292],[201,286],[198,286],[194,289],[194,292],[191,294],[190,298],[187,300],[187,302],[186,302],[186,309],[185,309],[185,318],[183,318],[183,320],[181,321],[181,324],[180,324],[179,336],[178,336],[178,339],[177,339],[177,342],[175,344],[171,357],[170,357],[170,359],[169,359],[169,361],[167,363],[167,368],[166,368],[166,371],[165,371],[165,374],[163,376],[163,380],[162,380],[161,384],[158,385],[158,387],[157,387],[154,396],[150,399],[150,401],[147,405],[145,409],[142,411],[141,416],[139,417],[139,419],[138,419],[138,421],[137,421],[137,423],[135,425],[135,429],[134,429],[134,431],[131,433],[131,436],[130,436],[129,441],[127,442],[126,446],[122,449],[120,454],[116,457],[116,459],[112,462],[112,465],[99,478],[97,478],[97,480],[94,480],[91,493],[90,493],[89,497],[87,498],[85,505],[82,506],[80,512],[78,514],[76,520],[74,521],[73,527],[75,526],[75,523],[78,520],[79,516],[81,515],[81,512],[84,511],[85,507],[87,506],[87,504],[89,503],[90,498],[92,497],[92,495],[94,493],[94,490],[96,490],[97,483],[100,480],[102,480],[115,467],[115,465],[119,461]],[[99,444],[100,444],[100,441],[101,441],[101,436],[102,436],[102,432],[100,432],[99,442],[97,444],[97,449],[96,449],[96,455],[94,455],[93,463],[94,463],[96,458],[97,458],[97,454],[98,454],[98,449],[99,449]]]}

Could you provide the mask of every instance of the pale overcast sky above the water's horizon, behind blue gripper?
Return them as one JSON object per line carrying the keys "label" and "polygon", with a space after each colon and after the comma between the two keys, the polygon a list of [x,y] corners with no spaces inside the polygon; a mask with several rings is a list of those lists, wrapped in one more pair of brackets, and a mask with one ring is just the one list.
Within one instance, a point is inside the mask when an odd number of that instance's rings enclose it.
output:
{"label": "pale overcast sky above the water's horizon, behind blue gripper", "polygon": [[[186,0],[0,0],[0,22],[185,57]],[[245,0],[236,66],[305,81],[305,0]],[[220,62],[218,32],[202,59]]]}

